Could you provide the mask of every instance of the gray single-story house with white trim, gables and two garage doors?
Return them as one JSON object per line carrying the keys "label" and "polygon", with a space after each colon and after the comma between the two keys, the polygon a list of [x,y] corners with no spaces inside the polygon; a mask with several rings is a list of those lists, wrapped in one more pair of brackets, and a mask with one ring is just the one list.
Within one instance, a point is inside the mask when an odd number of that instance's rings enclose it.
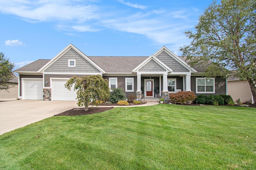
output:
{"label": "gray single-story house with white trim, gables and two garage doors", "polygon": [[[201,76],[204,68],[192,68],[183,58],[166,47],[149,57],[86,56],[70,44],[51,60],[37,60],[18,68],[19,98],[29,100],[67,100],[76,92],[64,87],[72,76],[100,74],[110,88],[123,88],[126,96],[153,98],[154,88],[160,96],[178,90],[198,94],[226,94],[226,79]],[[144,89],[144,92],[141,90]]]}

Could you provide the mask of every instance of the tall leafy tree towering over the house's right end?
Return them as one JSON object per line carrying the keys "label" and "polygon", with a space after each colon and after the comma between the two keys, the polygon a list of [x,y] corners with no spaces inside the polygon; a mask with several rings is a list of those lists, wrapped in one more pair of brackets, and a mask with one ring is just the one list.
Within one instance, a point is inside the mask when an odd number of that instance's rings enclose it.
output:
{"label": "tall leafy tree towering over the house's right end", "polygon": [[203,65],[212,76],[227,74],[217,67],[223,66],[248,80],[256,103],[256,0],[213,1],[185,34],[192,41],[180,51],[192,66]]}

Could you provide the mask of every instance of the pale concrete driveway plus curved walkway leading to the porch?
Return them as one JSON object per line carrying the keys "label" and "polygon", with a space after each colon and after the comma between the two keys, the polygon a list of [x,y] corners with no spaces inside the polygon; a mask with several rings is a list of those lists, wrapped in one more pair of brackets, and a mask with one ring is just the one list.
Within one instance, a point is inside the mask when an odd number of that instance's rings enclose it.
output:
{"label": "pale concrete driveway plus curved walkway leading to the porch", "polygon": [[[141,107],[152,106],[158,102],[148,102],[143,105],[114,106],[114,107]],[[113,107],[113,106],[98,106]],[[0,102],[0,135],[14,129],[24,127],[30,123],[52,117],[58,113],[78,108],[72,101],[42,101],[42,100],[14,100]]]}

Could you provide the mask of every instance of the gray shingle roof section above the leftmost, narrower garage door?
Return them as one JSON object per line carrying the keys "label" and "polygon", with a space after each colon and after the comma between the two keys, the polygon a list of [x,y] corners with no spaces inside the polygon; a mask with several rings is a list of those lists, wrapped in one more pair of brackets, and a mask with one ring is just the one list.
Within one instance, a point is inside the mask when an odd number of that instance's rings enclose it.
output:
{"label": "gray shingle roof section above the leftmost, narrower garage door", "polygon": [[38,70],[40,70],[40,68],[42,68],[49,61],[50,60],[39,59],[37,61],[27,64],[26,66],[18,68],[16,70],[14,70],[13,72],[23,72],[23,71],[24,72],[27,72],[27,71],[37,72]]}

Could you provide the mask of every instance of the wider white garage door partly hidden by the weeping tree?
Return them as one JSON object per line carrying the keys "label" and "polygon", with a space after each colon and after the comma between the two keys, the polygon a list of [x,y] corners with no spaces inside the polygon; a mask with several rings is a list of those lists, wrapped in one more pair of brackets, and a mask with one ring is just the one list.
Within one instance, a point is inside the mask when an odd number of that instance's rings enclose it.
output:
{"label": "wider white garage door partly hidden by the weeping tree", "polygon": [[52,100],[77,101],[76,91],[65,88],[67,80],[52,80]]}

